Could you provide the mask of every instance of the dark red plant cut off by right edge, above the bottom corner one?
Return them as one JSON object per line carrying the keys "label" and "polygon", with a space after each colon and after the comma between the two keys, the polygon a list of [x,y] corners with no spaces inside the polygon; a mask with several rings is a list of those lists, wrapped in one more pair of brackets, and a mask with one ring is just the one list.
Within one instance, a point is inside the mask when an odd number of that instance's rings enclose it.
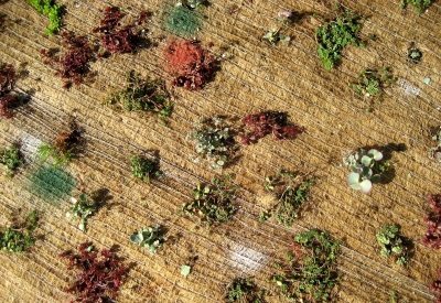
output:
{"label": "dark red plant cut off by right edge, above the bottom corner one", "polygon": [[428,230],[422,236],[422,244],[433,249],[441,248],[441,195],[429,195],[428,204],[432,208],[431,214],[424,218]]}

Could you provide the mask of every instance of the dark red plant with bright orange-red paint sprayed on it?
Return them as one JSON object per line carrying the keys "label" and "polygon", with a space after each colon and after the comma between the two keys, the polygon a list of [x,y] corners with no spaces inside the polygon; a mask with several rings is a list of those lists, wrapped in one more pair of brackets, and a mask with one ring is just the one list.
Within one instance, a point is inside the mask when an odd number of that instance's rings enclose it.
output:
{"label": "dark red plant with bright orange-red paint sprayed on it", "polygon": [[172,41],[165,50],[165,59],[174,76],[172,85],[186,90],[201,89],[216,67],[208,51],[190,41]]}

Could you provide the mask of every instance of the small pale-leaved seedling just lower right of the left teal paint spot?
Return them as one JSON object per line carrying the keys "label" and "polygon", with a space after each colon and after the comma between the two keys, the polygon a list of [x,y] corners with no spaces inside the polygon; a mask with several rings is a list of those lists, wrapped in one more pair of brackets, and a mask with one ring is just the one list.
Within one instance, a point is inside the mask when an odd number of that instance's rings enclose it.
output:
{"label": "small pale-leaved seedling just lower right of the left teal paint spot", "polygon": [[69,201],[73,206],[71,207],[69,212],[66,213],[66,217],[72,217],[73,220],[79,218],[80,223],[78,225],[78,229],[83,232],[86,232],[87,217],[96,213],[99,207],[95,198],[95,194],[92,193],[88,197],[86,193],[82,193],[78,199],[71,197]]}

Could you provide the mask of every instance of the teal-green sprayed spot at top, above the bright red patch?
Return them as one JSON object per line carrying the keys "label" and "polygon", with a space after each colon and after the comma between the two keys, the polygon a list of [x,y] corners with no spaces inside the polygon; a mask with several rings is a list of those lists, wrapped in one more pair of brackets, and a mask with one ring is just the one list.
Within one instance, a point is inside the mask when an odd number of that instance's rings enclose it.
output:
{"label": "teal-green sprayed spot at top, above the bright red patch", "polygon": [[163,28],[179,36],[194,35],[201,28],[201,14],[183,6],[168,8]]}

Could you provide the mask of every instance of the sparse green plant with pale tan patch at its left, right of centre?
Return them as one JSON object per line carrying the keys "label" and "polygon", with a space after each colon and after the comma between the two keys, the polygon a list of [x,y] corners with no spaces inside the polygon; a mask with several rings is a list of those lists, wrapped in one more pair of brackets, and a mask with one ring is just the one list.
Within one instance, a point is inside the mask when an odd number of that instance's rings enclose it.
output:
{"label": "sparse green plant with pale tan patch at its left, right of centre", "polygon": [[[276,176],[266,177],[267,191],[275,193],[277,203],[271,209],[279,224],[291,226],[299,217],[303,204],[308,202],[310,186],[314,185],[314,178],[302,182],[300,175],[279,171]],[[265,220],[266,214],[260,216]],[[259,218],[260,220],[260,218]]]}

